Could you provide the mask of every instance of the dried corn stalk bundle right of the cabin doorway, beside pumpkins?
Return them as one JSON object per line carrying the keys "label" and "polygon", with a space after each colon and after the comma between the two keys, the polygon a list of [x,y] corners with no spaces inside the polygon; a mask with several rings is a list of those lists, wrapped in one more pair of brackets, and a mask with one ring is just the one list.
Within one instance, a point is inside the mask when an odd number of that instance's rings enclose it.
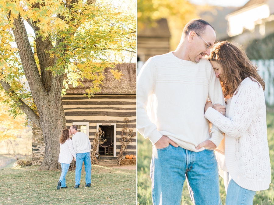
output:
{"label": "dried corn stalk bundle right of the cabin doorway, beside pumpkins", "polygon": [[121,164],[123,153],[125,152],[125,150],[127,150],[128,144],[132,142],[131,138],[135,136],[135,133],[133,133],[133,129],[129,129],[127,127],[129,122],[130,120],[128,118],[124,119],[124,126],[122,129],[121,140],[120,140],[121,150],[119,152],[116,164]]}

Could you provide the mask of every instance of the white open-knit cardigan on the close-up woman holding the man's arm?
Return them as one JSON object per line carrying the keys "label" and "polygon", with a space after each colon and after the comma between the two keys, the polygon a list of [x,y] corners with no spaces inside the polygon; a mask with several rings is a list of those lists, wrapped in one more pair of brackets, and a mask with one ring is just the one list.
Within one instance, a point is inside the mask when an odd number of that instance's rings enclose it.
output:
{"label": "white open-knit cardigan on the close-up woman holding the man's arm", "polygon": [[268,189],[271,169],[262,86],[244,79],[231,99],[228,118],[211,107],[205,117],[226,134],[225,161],[232,179],[244,189]]}

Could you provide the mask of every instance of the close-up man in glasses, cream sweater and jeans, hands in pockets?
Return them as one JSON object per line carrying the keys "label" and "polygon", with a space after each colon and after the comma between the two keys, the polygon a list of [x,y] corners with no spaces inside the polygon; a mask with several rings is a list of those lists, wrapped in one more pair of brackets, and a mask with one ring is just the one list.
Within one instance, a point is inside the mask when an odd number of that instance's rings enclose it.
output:
{"label": "close-up man in glasses, cream sweater and jeans, hands in pockets", "polygon": [[186,179],[194,204],[221,204],[213,149],[223,135],[204,117],[207,98],[224,105],[220,81],[202,58],[215,39],[209,23],[193,19],[177,49],[149,58],[138,75],[137,128],[153,143],[154,205],[179,205]]}

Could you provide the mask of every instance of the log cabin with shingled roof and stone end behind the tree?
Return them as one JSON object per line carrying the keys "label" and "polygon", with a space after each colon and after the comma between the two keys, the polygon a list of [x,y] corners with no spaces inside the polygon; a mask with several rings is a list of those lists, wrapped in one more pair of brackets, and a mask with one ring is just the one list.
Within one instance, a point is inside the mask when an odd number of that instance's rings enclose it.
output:
{"label": "log cabin with shingled roof and stone end behind the tree", "polygon": [[[124,119],[128,118],[128,128],[133,129],[135,137],[127,146],[124,154],[136,155],[136,63],[121,63],[114,68],[122,72],[120,80],[114,79],[110,68],[104,71],[105,79],[101,91],[88,98],[84,94],[91,81],[83,79],[84,87],[68,85],[63,96],[67,128],[76,125],[78,131],[84,132],[93,148],[94,135],[99,127],[104,131],[105,142],[99,147],[100,157],[116,158],[120,151],[121,132]],[[44,159],[44,140],[40,128],[33,126],[33,164],[41,164]]]}

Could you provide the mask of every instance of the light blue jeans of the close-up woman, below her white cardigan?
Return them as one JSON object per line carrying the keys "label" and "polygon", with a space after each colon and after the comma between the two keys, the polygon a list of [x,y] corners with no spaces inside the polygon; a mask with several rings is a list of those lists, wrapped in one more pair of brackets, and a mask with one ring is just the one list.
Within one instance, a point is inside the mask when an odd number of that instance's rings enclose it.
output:
{"label": "light blue jeans of the close-up woman, below her white cardigan", "polygon": [[224,172],[224,184],[227,186],[226,205],[253,205],[256,191],[237,185],[227,172]]}

